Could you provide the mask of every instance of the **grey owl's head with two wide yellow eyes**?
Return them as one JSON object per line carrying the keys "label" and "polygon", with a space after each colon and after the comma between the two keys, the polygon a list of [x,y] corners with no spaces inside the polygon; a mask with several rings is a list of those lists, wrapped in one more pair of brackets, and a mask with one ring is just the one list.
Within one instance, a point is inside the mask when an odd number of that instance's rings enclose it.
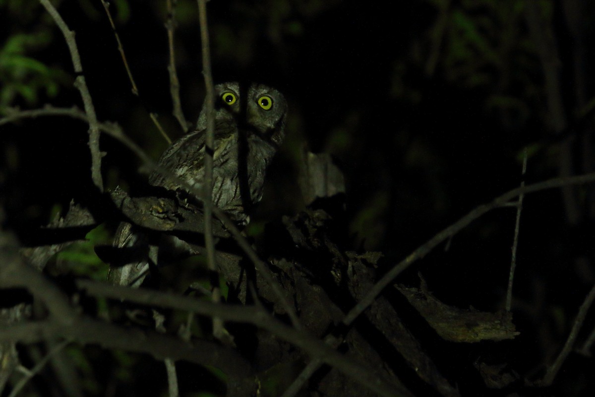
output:
{"label": "grey owl's head with two wide yellow eyes", "polygon": [[[215,86],[215,120],[234,120],[240,129],[255,132],[275,145],[284,137],[287,101],[276,89],[252,83],[223,83]],[[198,127],[206,127],[205,107]]]}

